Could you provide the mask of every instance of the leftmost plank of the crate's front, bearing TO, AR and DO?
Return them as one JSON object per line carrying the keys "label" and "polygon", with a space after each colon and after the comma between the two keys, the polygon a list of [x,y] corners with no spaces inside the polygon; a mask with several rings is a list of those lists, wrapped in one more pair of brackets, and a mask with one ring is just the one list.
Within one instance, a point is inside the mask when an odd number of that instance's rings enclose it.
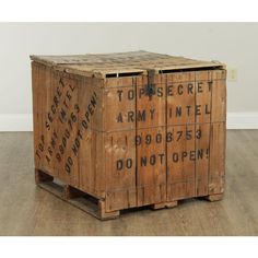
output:
{"label": "leftmost plank of the crate's front, bearing TO, AR and DO", "polygon": [[104,90],[106,211],[136,206],[136,79],[107,79]]}

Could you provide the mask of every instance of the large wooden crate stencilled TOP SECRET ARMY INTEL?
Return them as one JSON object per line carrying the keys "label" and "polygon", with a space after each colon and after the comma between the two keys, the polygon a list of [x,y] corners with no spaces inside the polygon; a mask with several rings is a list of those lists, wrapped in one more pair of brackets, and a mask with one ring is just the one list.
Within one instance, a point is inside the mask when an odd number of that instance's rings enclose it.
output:
{"label": "large wooden crate stencilled TOP SECRET ARMY INTEL", "polygon": [[148,51],[31,59],[40,187],[99,219],[222,198],[222,63]]}

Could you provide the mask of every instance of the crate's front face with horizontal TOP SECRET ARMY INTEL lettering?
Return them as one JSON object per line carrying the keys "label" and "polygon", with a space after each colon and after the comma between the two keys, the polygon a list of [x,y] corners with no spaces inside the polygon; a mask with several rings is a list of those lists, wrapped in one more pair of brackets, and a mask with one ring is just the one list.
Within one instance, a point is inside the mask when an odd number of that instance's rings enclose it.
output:
{"label": "crate's front face with horizontal TOP SECRET ARMY INTEL lettering", "polygon": [[[140,207],[223,190],[224,167],[221,163],[225,131],[221,128],[225,121],[225,71],[175,72],[155,77],[154,81],[156,91],[152,97],[143,93],[146,77],[113,79],[113,84],[108,84],[107,92],[112,94],[106,95],[106,110],[110,127],[106,130],[119,131],[120,136],[131,130],[130,133],[136,137],[130,146],[136,152],[133,166],[130,167],[136,181],[131,180],[126,187],[122,180],[116,180],[117,189],[120,186],[125,190],[108,188],[109,208]],[[115,112],[110,112],[109,106]],[[136,116],[130,126],[127,119],[124,125],[117,125],[119,122],[112,119],[112,116],[117,117],[114,116],[117,113],[127,118],[128,109],[133,114],[150,109],[155,112],[145,119],[141,115],[139,118]],[[218,137],[221,141],[214,140]],[[118,149],[122,149],[122,143]],[[214,150],[222,150],[222,162],[214,162]],[[115,157],[115,152],[112,155]],[[110,156],[108,161],[112,161]],[[124,166],[130,165],[128,157],[119,162]]]}

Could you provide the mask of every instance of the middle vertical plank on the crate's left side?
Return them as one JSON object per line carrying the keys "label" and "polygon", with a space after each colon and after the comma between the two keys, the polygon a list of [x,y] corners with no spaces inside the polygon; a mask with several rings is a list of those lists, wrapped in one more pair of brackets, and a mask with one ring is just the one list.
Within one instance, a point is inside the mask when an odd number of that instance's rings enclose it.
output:
{"label": "middle vertical plank on the crate's left side", "polygon": [[[78,185],[78,163],[72,153],[72,143],[78,131],[78,82],[69,74],[57,72],[55,91],[58,108],[54,116],[56,160],[59,179]],[[54,101],[55,102],[55,101]],[[48,107],[50,109],[50,107]]]}

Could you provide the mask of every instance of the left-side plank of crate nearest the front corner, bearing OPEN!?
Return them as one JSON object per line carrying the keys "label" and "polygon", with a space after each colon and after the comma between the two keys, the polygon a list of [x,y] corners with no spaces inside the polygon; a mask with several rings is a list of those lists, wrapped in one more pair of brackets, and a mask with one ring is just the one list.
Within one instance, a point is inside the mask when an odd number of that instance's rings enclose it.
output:
{"label": "left-side plank of crate nearest the front corner, bearing OPEN!", "polygon": [[[94,82],[93,82],[94,81]],[[78,133],[73,139],[72,150],[78,159],[79,188],[93,196],[102,196],[105,184],[99,184],[105,178],[104,166],[102,165],[103,142],[101,134],[96,131],[102,130],[102,99],[103,92],[95,86],[95,79],[80,78],[78,92]],[[102,174],[97,174],[99,173]]]}

